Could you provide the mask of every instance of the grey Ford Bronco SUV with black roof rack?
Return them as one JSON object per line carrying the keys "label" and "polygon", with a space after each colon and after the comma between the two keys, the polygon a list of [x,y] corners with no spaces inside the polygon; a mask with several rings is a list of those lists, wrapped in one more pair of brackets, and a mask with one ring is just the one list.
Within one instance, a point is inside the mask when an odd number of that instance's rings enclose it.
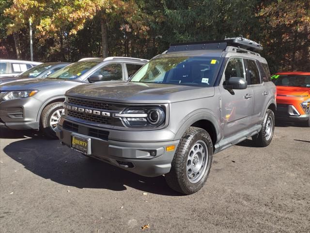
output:
{"label": "grey Ford Bronco SUV with black roof rack", "polygon": [[262,49],[243,38],[173,44],[129,82],[67,91],[56,133],[85,156],[197,192],[214,153],[272,140],[276,88]]}

